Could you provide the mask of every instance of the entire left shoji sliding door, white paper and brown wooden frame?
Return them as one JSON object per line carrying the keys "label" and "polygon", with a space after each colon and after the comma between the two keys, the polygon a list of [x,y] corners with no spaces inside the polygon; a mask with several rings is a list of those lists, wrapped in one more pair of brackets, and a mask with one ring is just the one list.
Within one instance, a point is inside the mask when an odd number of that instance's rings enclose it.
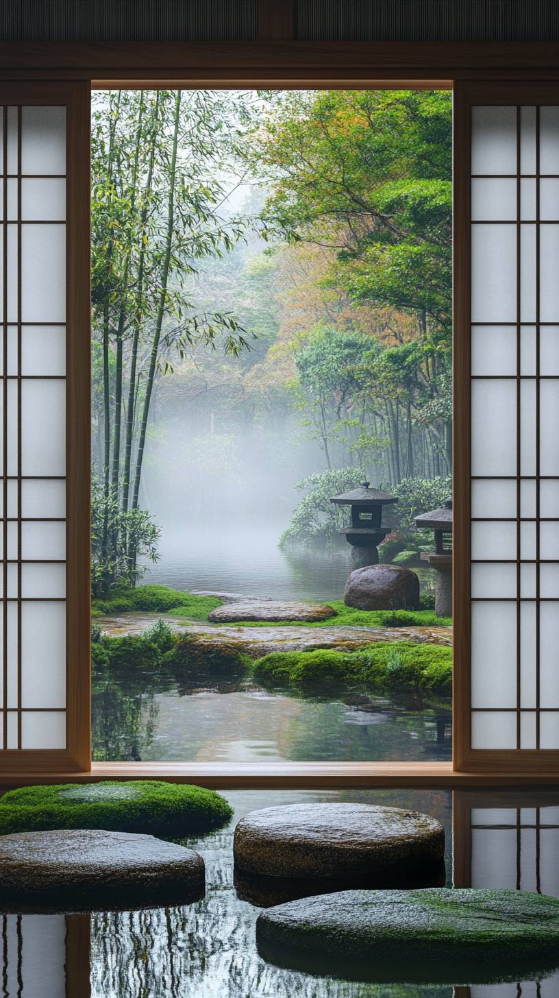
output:
{"label": "entire left shoji sliding door, white paper and brown wooden frame", "polygon": [[88,88],[0,105],[0,772],[87,768]]}

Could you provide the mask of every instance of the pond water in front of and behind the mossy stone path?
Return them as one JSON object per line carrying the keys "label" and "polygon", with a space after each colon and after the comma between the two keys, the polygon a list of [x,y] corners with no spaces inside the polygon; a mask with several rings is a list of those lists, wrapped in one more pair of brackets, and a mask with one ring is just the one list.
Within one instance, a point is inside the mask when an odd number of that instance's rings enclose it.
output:
{"label": "pond water in front of and behind the mossy stone path", "polygon": [[[333,548],[281,551],[278,524],[259,531],[235,523],[198,532],[164,529],[161,561],[145,583],[277,599],[339,599],[351,560]],[[429,569],[419,570],[430,585]],[[101,759],[380,760],[449,759],[450,701],[347,690],[293,697],[254,683],[188,679],[131,660],[110,683],[94,677],[94,753]]]}

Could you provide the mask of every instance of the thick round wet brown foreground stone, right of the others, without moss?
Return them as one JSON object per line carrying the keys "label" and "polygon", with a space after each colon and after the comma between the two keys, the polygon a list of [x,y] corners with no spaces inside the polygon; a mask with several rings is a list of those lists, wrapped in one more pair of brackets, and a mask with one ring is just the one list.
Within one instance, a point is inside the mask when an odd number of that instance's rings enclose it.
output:
{"label": "thick round wet brown foreground stone, right of the others, without moss", "polygon": [[235,864],[245,873],[319,878],[386,876],[432,866],[444,855],[444,829],[429,814],[360,803],[265,807],[235,829]]}

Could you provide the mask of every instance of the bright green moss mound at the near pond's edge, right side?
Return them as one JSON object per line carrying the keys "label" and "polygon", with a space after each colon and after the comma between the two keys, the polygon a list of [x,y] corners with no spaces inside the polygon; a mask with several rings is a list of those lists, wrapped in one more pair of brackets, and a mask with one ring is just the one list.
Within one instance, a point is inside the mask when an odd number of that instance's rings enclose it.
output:
{"label": "bright green moss mound at the near pond's edge, right side", "polygon": [[257,659],[252,670],[259,682],[276,686],[362,684],[385,690],[412,688],[449,694],[452,650],[442,645],[398,641],[367,645],[355,652],[275,652]]}

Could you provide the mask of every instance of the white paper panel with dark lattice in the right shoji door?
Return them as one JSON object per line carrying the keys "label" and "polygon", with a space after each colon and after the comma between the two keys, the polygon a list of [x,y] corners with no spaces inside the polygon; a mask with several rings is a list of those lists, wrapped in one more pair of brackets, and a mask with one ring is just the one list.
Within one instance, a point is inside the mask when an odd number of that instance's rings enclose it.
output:
{"label": "white paper panel with dark lattice in the right shoji door", "polygon": [[559,749],[559,108],[474,107],[472,749]]}

